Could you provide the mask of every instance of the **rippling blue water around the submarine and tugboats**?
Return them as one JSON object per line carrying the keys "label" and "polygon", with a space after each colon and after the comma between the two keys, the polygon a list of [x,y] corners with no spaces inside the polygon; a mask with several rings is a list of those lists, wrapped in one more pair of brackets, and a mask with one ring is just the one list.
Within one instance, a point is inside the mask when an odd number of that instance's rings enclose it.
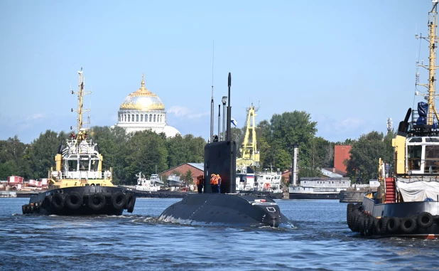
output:
{"label": "rippling blue water around the submarine and tugboats", "polygon": [[63,217],[23,216],[28,198],[0,198],[0,270],[438,270],[439,240],[360,238],[337,200],[277,200],[295,229],[158,223],[176,201]]}

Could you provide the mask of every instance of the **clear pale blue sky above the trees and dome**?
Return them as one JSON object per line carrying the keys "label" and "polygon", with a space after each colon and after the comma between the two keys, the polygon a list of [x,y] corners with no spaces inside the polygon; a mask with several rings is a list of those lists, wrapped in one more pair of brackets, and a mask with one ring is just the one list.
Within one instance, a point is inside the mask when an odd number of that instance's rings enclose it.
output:
{"label": "clear pale blue sky above the trees and dome", "polygon": [[75,127],[70,90],[81,67],[92,91],[90,125],[114,125],[144,73],[168,124],[207,140],[212,56],[216,122],[230,72],[238,127],[253,102],[256,122],[303,110],[318,122],[317,136],[332,142],[386,132],[388,117],[398,127],[423,100],[414,95],[416,60],[428,63],[428,43],[419,50],[415,34],[428,33],[431,7],[430,0],[0,1],[0,140],[30,143],[47,129]]}

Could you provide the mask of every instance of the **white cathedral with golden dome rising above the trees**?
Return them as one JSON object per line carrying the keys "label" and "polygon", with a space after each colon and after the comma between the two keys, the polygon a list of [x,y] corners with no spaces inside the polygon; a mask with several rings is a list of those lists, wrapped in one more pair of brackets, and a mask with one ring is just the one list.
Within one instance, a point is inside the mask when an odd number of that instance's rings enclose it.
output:
{"label": "white cathedral with golden dome rising above the trees", "polygon": [[116,125],[124,127],[127,133],[151,129],[158,134],[164,132],[166,137],[180,134],[178,129],[166,124],[165,105],[156,94],[146,89],[144,75],[141,87],[126,96],[117,116]]}

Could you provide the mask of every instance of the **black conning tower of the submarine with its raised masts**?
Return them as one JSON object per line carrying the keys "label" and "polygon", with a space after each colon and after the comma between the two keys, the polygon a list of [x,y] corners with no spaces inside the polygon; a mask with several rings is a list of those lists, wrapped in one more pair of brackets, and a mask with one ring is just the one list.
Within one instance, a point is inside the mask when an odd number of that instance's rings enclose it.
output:
{"label": "black conning tower of the submarine with its raised masts", "polygon": [[[219,174],[221,184],[220,193],[236,193],[236,171],[237,171],[237,144],[232,140],[231,120],[232,107],[230,106],[230,87],[232,86],[232,73],[227,78],[228,99],[227,99],[227,137],[224,141],[213,142],[212,134],[209,144],[205,145],[204,175],[205,185],[203,193],[212,193],[210,187],[210,176]],[[213,106],[213,84],[212,84],[212,106]],[[213,107],[212,107],[213,108]],[[211,115],[213,114],[213,110]],[[220,123],[218,123],[220,125]],[[213,131],[213,117],[210,118],[210,131]],[[219,134],[218,134],[219,138]]]}

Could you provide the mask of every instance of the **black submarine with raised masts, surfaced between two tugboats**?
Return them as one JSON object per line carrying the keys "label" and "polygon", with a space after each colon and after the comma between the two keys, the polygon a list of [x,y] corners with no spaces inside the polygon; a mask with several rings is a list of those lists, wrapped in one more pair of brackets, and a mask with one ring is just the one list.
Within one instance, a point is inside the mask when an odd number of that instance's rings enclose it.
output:
{"label": "black submarine with raised masts, surfaced between two tugboats", "polygon": [[[264,195],[240,195],[236,191],[237,145],[231,140],[230,87],[227,105],[227,139],[213,139],[213,90],[211,100],[210,142],[205,145],[203,193],[190,193],[166,208],[159,221],[189,225],[224,225],[239,227],[270,226],[294,228],[273,199]],[[212,86],[213,89],[213,86]],[[223,103],[225,105],[225,102]],[[224,117],[224,116],[223,116]],[[224,122],[223,122],[224,123]],[[219,124],[218,124],[219,125]],[[223,125],[224,126],[224,125]],[[218,134],[219,135],[219,134]],[[212,140],[213,139],[213,140]],[[212,193],[211,174],[221,176],[220,193]]]}

